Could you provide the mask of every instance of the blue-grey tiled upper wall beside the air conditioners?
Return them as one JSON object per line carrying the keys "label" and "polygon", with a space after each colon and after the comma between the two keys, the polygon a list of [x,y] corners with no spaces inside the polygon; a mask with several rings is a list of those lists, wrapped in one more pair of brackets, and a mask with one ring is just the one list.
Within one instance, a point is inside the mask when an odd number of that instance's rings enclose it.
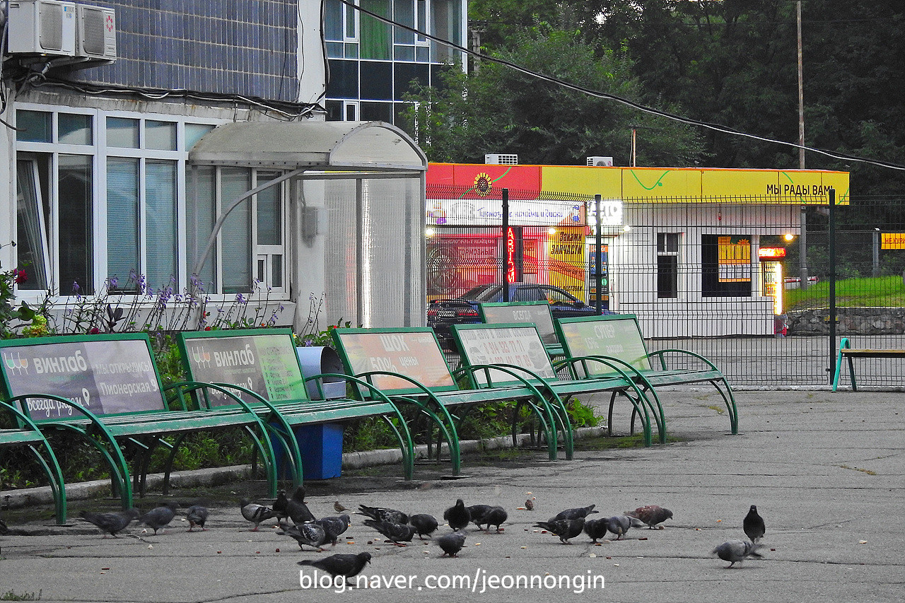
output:
{"label": "blue-grey tiled upper wall beside the air conditioners", "polygon": [[116,10],[119,58],[71,72],[72,80],[298,98],[298,0],[78,2]]}

